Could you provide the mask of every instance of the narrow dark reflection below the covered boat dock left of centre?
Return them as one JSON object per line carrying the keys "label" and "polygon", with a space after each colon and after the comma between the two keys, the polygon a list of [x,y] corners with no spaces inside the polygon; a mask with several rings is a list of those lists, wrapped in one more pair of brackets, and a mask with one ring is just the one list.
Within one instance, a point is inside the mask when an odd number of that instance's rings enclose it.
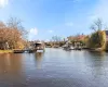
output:
{"label": "narrow dark reflection below the covered boat dock left of centre", "polygon": [[41,69],[42,58],[43,58],[43,52],[36,52],[35,53],[35,61],[36,61],[37,69]]}

